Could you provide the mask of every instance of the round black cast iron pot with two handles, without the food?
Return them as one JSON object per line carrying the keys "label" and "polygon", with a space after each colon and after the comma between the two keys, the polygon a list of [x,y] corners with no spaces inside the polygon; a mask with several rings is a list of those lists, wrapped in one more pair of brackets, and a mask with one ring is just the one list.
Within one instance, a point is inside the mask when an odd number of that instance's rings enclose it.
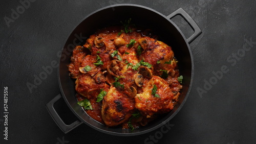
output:
{"label": "round black cast iron pot with two handles, without the food", "polygon": [[[185,38],[174,22],[170,20],[176,15],[182,16],[194,30],[194,34],[188,39]],[[74,80],[69,77],[69,70],[67,67],[70,63],[70,57],[75,45],[84,44],[86,42],[86,38],[94,34],[96,30],[100,28],[118,25],[120,24],[120,20],[130,18],[132,18],[132,23],[143,28],[152,29],[158,36],[160,36],[159,40],[172,46],[175,57],[179,61],[178,66],[180,75],[183,76],[183,88],[181,90],[179,101],[175,105],[174,109],[148,125],[135,129],[134,131],[130,131],[128,129],[122,130],[120,127],[108,128],[98,123],[84,112],[81,106],[77,104]],[[56,124],[64,133],[69,132],[82,123],[85,123],[100,132],[120,136],[139,135],[153,131],[172,119],[184,105],[188,97],[194,74],[193,57],[191,55],[189,43],[197,38],[201,33],[202,31],[196,22],[182,8],[168,16],[165,16],[153,9],[132,4],[112,5],[101,8],[85,17],[68,37],[66,44],[63,46],[58,69],[61,94],[57,95],[52,101],[46,104],[46,107]],[[78,117],[78,120],[71,125],[63,123],[62,119],[53,107],[53,104],[61,98],[61,95],[71,111]]]}

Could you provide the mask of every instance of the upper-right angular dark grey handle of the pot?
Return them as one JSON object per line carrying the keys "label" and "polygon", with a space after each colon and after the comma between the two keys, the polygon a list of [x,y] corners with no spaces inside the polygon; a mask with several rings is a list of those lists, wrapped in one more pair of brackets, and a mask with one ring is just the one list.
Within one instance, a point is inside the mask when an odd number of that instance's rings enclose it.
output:
{"label": "upper-right angular dark grey handle of the pot", "polygon": [[182,9],[182,8],[179,8],[178,10],[176,10],[173,13],[169,14],[167,16],[167,18],[168,19],[172,19],[176,15],[180,15],[182,18],[184,18],[186,20],[186,22],[188,23],[188,25],[194,30],[194,34],[191,35],[187,39],[188,43],[191,43],[192,41],[194,41],[202,33],[201,29],[199,28],[199,26],[197,25],[195,20],[193,18],[191,18],[191,16],[188,15],[188,13],[184,9]]}

